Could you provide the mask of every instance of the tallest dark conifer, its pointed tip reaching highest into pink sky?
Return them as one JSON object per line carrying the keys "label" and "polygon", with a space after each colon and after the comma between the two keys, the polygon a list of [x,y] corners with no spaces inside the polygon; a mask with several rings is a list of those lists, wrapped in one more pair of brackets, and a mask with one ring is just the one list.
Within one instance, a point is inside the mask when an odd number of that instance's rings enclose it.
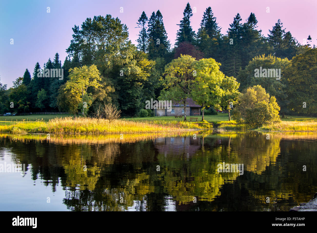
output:
{"label": "tallest dark conifer, its pointed tip reaching highest into pink sky", "polygon": [[177,31],[176,46],[178,46],[181,42],[195,42],[195,31],[193,31],[190,21],[193,14],[189,3],[187,3],[183,15],[184,17],[180,21],[180,24],[177,24],[179,25],[179,29]]}

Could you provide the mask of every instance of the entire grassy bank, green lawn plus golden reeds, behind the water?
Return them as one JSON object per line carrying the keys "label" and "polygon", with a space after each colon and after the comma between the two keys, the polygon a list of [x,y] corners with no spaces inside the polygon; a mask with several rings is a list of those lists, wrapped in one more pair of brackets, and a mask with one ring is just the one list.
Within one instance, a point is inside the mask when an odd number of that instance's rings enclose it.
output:
{"label": "entire grassy bank, green lawn plus golden reeds, behind the water", "polygon": [[[68,116],[68,117],[67,117]],[[61,119],[63,117],[63,119]],[[64,118],[67,117],[67,118]],[[217,129],[218,132],[240,130],[241,126],[235,120],[228,121],[228,113],[206,115],[205,122],[187,122],[184,118],[173,116],[138,117],[116,120],[111,123],[105,119],[77,118],[70,115],[26,115],[26,116],[0,116],[0,132],[10,133],[57,133],[57,134],[107,134],[107,133],[157,133],[174,132],[188,129]],[[286,118],[287,117],[287,118]],[[281,122],[264,125],[257,130],[280,132],[317,132],[317,118],[286,116]],[[49,122],[50,119],[54,119]]]}

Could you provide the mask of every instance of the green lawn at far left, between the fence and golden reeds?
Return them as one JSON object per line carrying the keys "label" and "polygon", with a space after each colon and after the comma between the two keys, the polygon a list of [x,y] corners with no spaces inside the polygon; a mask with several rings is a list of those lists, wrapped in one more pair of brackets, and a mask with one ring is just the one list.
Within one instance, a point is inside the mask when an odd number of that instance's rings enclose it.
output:
{"label": "green lawn at far left, between the fence and golden reeds", "polygon": [[0,125],[10,125],[17,121],[27,122],[27,121],[49,121],[55,117],[67,117],[72,115],[67,114],[34,114],[34,115],[24,115],[24,116],[0,116]]}

